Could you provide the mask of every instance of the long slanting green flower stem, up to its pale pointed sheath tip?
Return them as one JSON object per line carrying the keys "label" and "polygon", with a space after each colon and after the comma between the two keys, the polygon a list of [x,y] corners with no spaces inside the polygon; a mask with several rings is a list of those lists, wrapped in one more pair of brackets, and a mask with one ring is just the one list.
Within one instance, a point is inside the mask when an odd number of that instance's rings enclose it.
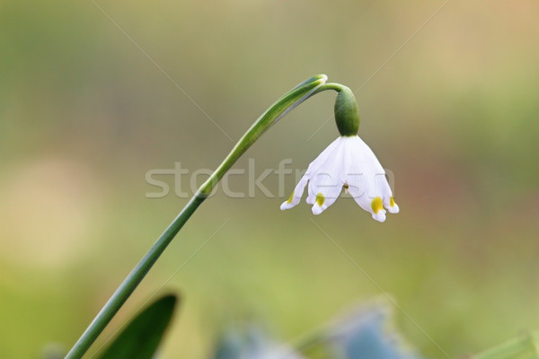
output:
{"label": "long slanting green flower stem, up to its pale pointed sheath tip", "polygon": [[128,300],[131,293],[135,291],[137,285],[144,279],[151,267],[154,266],[155,261],[163,254],[163,251],[171,243],[174,236],[180,232],[181,227],[185,224],[200,204],[208,197],[212,189],[215,188],[217,182],[225,175],[233,165],[234,162],[240,158],[240,156],[247,151],[247,149],[278,119],[285,116],[290,110],[294,109],[297,105],[307,100],[309,97],[317,93],[323,83],[325,83],[327,77],[324,74],[314,76],[303,83],[298,84],[290,92],[287,92],[283,97],[271,105],[270,109],[267,109],[260,118],[258,118],[251,128],[247,130],[245,135],[235,144],[232,151],[226,156],[216,171],[200,188],[199,191],[192,197],[189,203],[181,210],[168,228],[163,232],[155,244],[148,250],[144,258],[142,258],[137,267],[135,267],[131,273],[124,279],[119,288],[112,294],[109,301],[103,306],[102,310],[96,315],[92,323],[83,335],[77,340],[75,346],[71,348],[66,355],[66,359],[79,359],[82,358],[88,348],[92,346],[93,342],[102,333],[103,329],[107,327],[110,320],[114,318],[121,306]]}

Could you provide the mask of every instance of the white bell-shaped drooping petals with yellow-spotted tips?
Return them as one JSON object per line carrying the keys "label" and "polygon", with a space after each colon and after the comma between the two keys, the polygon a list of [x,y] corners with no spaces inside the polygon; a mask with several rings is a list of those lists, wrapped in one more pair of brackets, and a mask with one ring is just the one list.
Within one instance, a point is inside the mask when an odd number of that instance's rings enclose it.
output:
{"label": "white bell-shaped drooping petals with yellow-spotted tips", "polygon": [[343,188],[378,222],[385,221],[385,209],[392,214],[399,213],[384,168],[359,136],[340,136],[320,153],[292,196],[280,206],[282,210],[299,203],[307,182],[306,202],[313,205],[314,215],[320,215],[331,206]]}

